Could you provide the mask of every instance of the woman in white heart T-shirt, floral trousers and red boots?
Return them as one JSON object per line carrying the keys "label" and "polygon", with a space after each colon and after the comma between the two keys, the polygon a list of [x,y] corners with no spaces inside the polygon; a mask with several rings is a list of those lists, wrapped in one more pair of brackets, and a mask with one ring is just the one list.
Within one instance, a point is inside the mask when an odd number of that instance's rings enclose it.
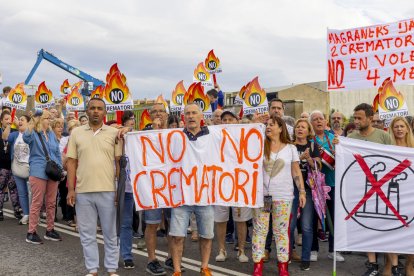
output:
{"label": "woman in white heart T-shirt, floral trousers and red boots", "polygon": [[265,242],[272,213],[279,275],[288,276],[293,181],[298,187],[299,206],[302,208],[306,203],[306,191],[299,168],[298,151],[290,141],[285,122],[276,115],[272,115],[267,122],[264,155],[264,207],[253,210],[253,275],[262,275]]}

